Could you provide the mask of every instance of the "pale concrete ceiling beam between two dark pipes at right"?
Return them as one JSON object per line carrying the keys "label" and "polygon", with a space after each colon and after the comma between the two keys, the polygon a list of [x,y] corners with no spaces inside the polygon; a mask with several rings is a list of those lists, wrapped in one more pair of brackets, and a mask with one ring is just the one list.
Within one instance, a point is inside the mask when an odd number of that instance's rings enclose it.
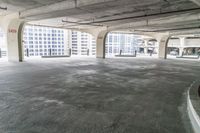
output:
{"label": "pale concrete ceiling beam between two dark pipes at right", "polygon": [[[200,11],[200,10],[199,10]],[[192,22],[199,22],[200,13],[183,13],[179,15],[173,14],[172,16],[158,16],[158,18],[144,17],[143,20],[132,19],[131,21],[124,21],[121,24],[110,26],[109,30],[116,29],[134,29],[144,28],[144,26],[155,26],[156,29],[171,27],[171,25],[181,25],[182,27]]]}

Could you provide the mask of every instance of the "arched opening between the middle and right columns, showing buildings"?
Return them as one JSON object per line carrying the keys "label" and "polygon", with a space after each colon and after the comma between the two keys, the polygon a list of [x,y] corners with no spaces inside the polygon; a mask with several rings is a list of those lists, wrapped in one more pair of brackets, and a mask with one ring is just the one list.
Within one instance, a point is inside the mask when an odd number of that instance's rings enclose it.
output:
{"label": "arched opening between the middle and right columns, showing buildings", "polygon": [[151,37],[128,33],[109,33],[106,39],[106,56],[156,56],[158,43]]}

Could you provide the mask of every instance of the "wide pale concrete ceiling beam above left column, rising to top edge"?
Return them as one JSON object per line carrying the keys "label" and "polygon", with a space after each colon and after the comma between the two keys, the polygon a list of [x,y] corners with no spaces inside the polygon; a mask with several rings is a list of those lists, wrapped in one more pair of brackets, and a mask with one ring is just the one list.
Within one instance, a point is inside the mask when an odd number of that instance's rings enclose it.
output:
{"label": "wide pale concrete ceiling beam above left column, rising to top edge", "polygon": [[[55,17],[63,17],[66,14],[81,14],[81,13],[89,13],[89,11],[84,9],[86,6],[94,6],[101,3],[114,2],[115,0],[65,0],[62,2],[45,5],[42,7],[26,10],[20,12],[20,18],[31,18],[34,16],[42,16],[47,15],[47,18],[55,18]],[[56,16],[53,16],[56,15]]]}

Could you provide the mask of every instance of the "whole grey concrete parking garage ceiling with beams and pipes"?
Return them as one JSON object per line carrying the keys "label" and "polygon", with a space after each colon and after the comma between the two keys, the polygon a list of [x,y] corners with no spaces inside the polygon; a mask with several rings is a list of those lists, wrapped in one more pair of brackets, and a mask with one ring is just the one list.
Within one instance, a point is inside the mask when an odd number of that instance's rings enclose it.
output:
{"label": "whole grey concrete parking garage ceiling with beams and pipes", "polygon": [[107,27],[180,32],[200,27],[200,0],[0,0],[0,15],[19,12],[33,24],[67,29]]}

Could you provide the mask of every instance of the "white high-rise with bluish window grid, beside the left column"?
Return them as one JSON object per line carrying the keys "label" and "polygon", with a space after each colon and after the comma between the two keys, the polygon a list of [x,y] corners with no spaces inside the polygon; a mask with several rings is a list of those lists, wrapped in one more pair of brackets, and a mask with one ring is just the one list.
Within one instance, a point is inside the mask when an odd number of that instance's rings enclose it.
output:
{"label": "white high-rise with bluish window grid, beside the left column", "polygon": [[66,55],[68,31],[64,29],[27,25],[24,29],[25,56]]}

